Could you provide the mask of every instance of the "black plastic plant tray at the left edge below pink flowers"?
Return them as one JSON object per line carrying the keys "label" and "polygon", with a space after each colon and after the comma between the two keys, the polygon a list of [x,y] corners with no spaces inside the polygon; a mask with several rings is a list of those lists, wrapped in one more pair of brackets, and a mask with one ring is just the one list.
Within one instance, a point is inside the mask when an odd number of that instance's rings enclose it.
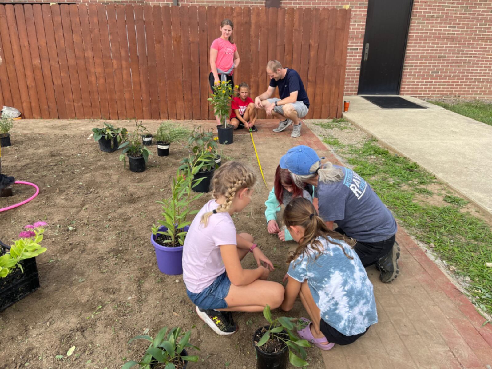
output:
{"label": "black plastic plant tray at the left edge below pink flowers", "polygon": [[[0,256],[5,254],[10,247],[0,241]],[[39,288],[36,258],[21,261],[24,273],[20,268],[11,270],[7,277],[0,278],[0,311],[25,298],[31,292]]]}

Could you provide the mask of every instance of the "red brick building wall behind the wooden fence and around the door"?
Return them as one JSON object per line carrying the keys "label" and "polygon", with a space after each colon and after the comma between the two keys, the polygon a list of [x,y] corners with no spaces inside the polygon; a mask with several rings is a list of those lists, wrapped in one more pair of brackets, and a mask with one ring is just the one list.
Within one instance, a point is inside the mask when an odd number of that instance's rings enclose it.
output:
{"label": "red brick building wall behind the wooden fence and around the door", "polygon": [[[3,0],[5,2],[26,2]],[[159,3],[172,0],[29,0]],[[264,0],[179,0],[180,4],[263,6]],[[357,93],[368,0],[280,0],[282,7],[352,8],[345,94]],[[401,94],[492,98],[492,0],[414,0]]]}

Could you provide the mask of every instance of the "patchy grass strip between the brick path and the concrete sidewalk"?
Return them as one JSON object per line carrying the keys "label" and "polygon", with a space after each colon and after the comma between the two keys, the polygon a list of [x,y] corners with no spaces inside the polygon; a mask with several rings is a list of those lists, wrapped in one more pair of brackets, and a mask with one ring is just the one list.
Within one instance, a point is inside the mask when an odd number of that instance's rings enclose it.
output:
{"label": "patchy grass strip between the brick path and the concrete sidewalk", "polygon": [[376,140],[346,145],[337,152],[371,185],[408,233],[434,244],[433,250],[454,266],[457,274],[471,278],[468,293],[475,305],[492,314],[492,274],[486,267],[492,261],[492,230],[480,218],[461,210],[467,201],[453,195],[444,195],[451,205],[419,200],[417,194],[433,195],[425,186],[436,183],[435,177],[381,148]]}

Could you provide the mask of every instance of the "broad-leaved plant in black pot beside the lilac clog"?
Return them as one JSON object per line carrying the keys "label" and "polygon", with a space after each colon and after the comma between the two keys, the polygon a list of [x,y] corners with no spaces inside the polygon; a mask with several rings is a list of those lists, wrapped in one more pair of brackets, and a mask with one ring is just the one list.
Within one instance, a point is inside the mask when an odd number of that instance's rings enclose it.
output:
{"label": "broad-leaved plant in black pot beside the lilac clog", "polygon": [[268,324],[258,328],[253,335],[257,368],[285,369],[288,362],[294,367],[309,365],[304,347],[311,345],[294,333],[295,328],[304,328],[302,323],[296,324],[297,319],[285,316],[273,319],[268,305],[263,309],[263,316]]}

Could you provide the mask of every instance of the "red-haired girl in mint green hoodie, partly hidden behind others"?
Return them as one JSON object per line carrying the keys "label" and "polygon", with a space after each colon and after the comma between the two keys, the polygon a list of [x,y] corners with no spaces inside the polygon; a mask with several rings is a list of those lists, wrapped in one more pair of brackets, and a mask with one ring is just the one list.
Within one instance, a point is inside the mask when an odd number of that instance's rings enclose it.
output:
{"label": "red-haired girl in mint green hoodie, partly hidden behind others", "polygon": [[[309,187],[312,188],[311,185]],[[312,202],[311,194],[304,188],[297,187],[290,177],[288,169],[277,166],[275,171],[274,188],[268,195],[268,200],[265,202],[267,209],[265,217],[267,218],[267,229],[271,234],[277,234],[281,241],[292,241],[292,236],[287,229],[280,229],[277,223],[277,213],[281,209],[281,205],[287,205],[290,200],[296,197],[304,197]]]}

